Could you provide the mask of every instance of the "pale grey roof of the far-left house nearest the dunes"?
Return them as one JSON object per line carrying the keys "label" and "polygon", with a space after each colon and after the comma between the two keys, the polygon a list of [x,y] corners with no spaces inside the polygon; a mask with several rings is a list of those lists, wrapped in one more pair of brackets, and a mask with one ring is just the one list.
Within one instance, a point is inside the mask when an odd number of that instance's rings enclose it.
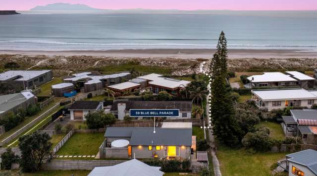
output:
{"label": "pale grey roof of the far-left house nearest the dunes", "polygon": [[26,81],[51,70],[10,70],[0,74],[0,81],[5,81],[8,79],[15,79],[15,81]]}

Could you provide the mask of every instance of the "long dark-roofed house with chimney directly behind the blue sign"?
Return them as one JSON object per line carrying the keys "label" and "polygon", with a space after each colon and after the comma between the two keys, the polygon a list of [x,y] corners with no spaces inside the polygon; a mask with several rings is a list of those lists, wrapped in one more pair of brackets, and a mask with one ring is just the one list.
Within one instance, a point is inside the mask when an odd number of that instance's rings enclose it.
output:
{"label": "long dark-roofed house with chimney directly behind the blue sign", "polygon": [[[114,101],[110,113],[118,119],[130,115],[130,109],[177,109],[179,117],[173,118],[191,118],[192,102],[191,101]],[[143,117],[138,117],[143,118]]]}

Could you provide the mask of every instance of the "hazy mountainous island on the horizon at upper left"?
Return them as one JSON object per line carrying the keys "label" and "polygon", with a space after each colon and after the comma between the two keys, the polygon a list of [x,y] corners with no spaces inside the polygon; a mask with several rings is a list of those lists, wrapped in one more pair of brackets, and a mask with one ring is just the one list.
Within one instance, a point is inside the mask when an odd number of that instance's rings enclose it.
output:
{"label": "hazy mountainous island on the horizon at upper left", "polygon": [[101,10],[93,8],[85,4],[70,4],[70,3],[52,3],[44,6],[36,6],[30,10],[52,10],[52,11],[96,11]]}

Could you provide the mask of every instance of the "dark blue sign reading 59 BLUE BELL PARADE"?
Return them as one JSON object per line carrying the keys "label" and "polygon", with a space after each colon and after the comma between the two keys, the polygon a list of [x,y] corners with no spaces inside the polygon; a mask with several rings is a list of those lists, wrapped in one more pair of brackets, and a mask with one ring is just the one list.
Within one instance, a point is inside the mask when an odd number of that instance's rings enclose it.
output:
{"label": "dark blue sign reading 59 BLUE BELL PARADE", "polygon": [[130,117],[179,117],[179,110],[132,110]]}

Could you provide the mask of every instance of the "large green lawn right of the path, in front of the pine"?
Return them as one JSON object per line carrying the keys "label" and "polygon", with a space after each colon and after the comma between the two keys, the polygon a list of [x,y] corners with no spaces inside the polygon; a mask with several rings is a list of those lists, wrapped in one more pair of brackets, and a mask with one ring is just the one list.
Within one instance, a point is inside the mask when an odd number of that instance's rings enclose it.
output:
{"label": "large green lawn right of the path, in front of the pine", "polygon": [[287,153],[248,154],[244,149],[218,146],[217,158],[222,176],[270,176],[270,167]]}

